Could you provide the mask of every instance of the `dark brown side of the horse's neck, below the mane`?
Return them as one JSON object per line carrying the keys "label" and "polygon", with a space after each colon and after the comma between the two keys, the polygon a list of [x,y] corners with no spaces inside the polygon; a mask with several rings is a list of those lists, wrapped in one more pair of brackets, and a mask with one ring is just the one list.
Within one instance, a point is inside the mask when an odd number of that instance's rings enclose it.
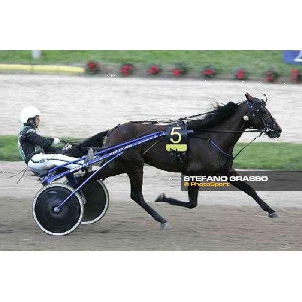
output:
{"label": "dark brown side of the horse's neck, below the mane", "polygon": [[[213,128],[217,131],[244,131],[246,129],[246,123],[243,120],[244,112],[239,108],[235,114],[230,118],[224,120],[221,124]],[[213,132],[213,139],[215,139],[218,145],[223,148],[226,152],[232,150],[239,138],[241,137],[242,132]]]}

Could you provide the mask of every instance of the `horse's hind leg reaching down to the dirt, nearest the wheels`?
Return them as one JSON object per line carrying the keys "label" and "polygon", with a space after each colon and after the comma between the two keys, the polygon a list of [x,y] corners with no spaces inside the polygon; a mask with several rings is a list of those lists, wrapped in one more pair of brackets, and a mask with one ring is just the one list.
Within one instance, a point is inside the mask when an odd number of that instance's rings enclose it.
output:
{"label": "horse's hind leg reaching down to the dirt, nearest the wheels", "polygon": [[137,167],[127,172],[131,183],[131,199],[139,204],[145,211],[148,212],[156,221],[161,223],[161,229],[168,228],[168,222],[161,215],[159,215],[152,207],[150,207],[144,200],[142,195],[142,179],[143,168]]}

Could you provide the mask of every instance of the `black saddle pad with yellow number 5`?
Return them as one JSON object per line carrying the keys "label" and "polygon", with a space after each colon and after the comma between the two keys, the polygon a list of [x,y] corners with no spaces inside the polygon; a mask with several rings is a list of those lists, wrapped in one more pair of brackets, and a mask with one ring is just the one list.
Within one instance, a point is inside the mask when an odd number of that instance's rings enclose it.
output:
{"label": "black saddle pad with yellow number 5", "polygon": [[185,152],[187,150],[187,126],[166,127],[166,151]]}

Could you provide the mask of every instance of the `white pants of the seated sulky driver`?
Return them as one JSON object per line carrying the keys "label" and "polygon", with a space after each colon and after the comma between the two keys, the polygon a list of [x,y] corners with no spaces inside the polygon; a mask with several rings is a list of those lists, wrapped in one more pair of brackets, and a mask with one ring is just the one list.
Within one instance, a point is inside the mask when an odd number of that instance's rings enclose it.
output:
{"label": "white pants of the seated sulky driver", "polygon": [[[29,168],[34,168],[37,170],[49,170],[56,166],[63,165],[67,162],[78,160],[78,158],[73,158],[63,154],[43,154],[38,153],[32,156],[32,158],[27,163]],[[82,165],[84,160],[77,163],[69,164],[65,166],[67,169],[73,169]]]}

